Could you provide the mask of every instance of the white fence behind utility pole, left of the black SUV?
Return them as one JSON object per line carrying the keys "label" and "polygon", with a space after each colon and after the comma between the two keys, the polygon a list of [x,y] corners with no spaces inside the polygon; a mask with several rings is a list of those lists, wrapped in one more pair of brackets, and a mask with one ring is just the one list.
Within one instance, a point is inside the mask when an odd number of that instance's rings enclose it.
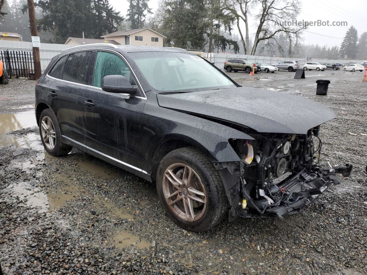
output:
{"label": "white fence behind utility pole, left of the black SUV", "polygon": [[[51,59],[60,54],[64,49],[70,48],[70,45],[41,43],[40,59],[41,70],[45,70]],[[32,51],[32,42],[0,40],[0,49],[9,51]]]}

